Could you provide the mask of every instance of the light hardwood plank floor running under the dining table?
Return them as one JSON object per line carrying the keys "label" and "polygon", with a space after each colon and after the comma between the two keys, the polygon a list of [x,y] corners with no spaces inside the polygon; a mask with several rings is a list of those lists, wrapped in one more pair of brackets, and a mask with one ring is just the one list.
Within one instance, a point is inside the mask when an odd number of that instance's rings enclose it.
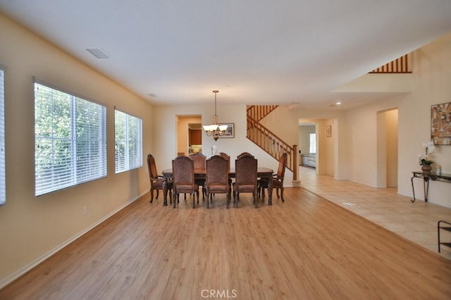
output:
{"label": "light hardwood plank floor running under the dining table", "polygon": [[450,260],[316,194],[209,210],[147,194],[0,299],[451,299]]}

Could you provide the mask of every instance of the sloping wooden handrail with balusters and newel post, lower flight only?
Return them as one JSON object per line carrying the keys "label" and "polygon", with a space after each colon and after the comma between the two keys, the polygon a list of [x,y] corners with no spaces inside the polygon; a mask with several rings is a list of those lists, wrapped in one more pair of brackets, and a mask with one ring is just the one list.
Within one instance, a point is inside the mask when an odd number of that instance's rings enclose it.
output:
{"label": "sloping wooden handrail with balusters and newel post, lower flight only", "polygon": [[293,180],[297,180],[297,145],[290,146],[283,142],[280,137],[250,115],[247,115],[247,138],[277,160],[283,153],[286,153],[288,158],[287,168],[292,171]]}

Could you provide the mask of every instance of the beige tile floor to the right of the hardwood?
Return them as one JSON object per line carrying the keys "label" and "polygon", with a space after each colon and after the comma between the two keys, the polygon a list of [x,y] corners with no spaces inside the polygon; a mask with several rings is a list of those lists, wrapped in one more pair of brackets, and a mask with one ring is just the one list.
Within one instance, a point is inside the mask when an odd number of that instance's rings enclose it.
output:
{"label": "beige tile floor to the right of the hardwood", "polygon": [[[397,235],[438,254],[438,220],[451,222],[451,208],[397,194],[396,188],[376,189],[347,180],[316,175],[316,170],[299,167],[301,187],[322,196]],[[451,232],[440,232],[451,242]],[[441,246],[440,256],[451,260],[451,248]]]}

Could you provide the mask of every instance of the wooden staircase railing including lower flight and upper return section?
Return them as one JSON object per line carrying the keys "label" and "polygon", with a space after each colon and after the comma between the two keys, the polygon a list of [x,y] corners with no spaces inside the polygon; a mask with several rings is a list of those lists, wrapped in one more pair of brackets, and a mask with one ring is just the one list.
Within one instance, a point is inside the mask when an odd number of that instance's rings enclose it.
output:
{"label": "wooden staircase railing including lower flight and upper return section", "polygon": [[287,168],[293,173],[293,180],[297,180],[297,145],[290,146],[283,142],[271,130],[259,123],[268,113],[271,113],[278,106],[249,106],[247,108],[247,138],[261,149],[266,151],[277,161],[283,153],[287,154]]}

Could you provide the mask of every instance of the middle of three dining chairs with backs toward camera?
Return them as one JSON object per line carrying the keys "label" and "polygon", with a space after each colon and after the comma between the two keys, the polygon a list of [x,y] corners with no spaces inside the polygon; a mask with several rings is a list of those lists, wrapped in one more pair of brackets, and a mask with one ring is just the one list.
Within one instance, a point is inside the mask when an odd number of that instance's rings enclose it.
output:
{"label": "middle of three dining chairs with backs toward camera", "polygon": [[206,208],[210,208],[209,196],[213,194],[226,194],[226,201],[228,208],[230,204],[230,182],[229,182],[229,163],[226,158],[222,156],[211,156],[206,160]]}

